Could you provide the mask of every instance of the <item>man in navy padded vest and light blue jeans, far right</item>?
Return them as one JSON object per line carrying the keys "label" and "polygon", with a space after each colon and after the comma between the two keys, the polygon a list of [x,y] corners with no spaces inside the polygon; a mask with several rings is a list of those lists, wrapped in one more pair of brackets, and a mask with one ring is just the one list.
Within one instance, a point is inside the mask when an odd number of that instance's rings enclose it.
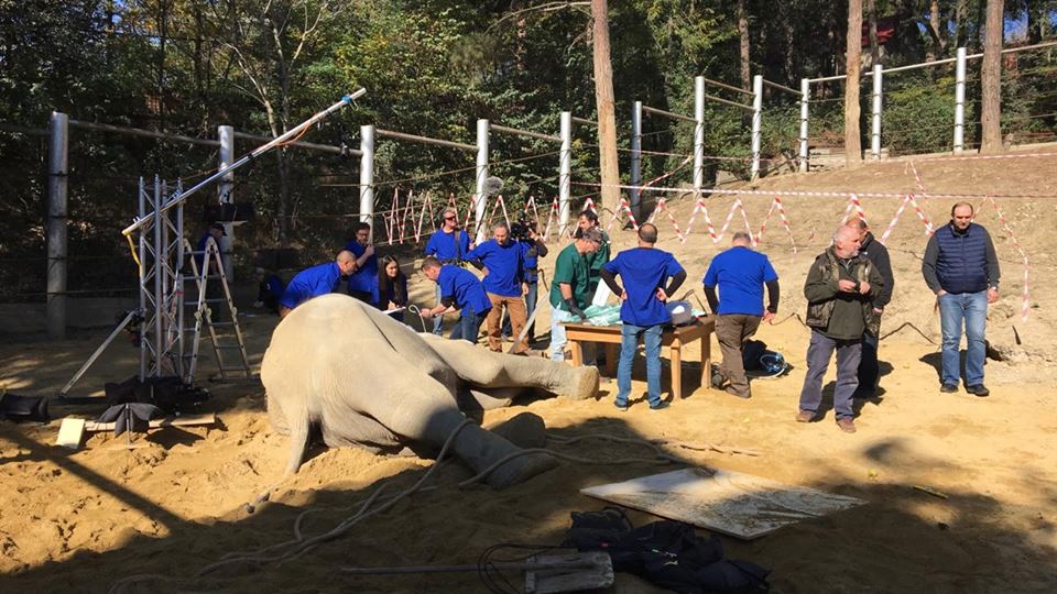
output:
{"label": "man in navy padded vest and light blue jeans, far right", "polygon": [[958,202],[950,222],[936,230],[922,258],[925,284],[939,301],[944,334],[940,392],[958,392],[961,322],[966,322],[966,391],[990,394],[983,385],[988,304],[999,300],[999,257],[991,235],[972,222],[972,205]]}

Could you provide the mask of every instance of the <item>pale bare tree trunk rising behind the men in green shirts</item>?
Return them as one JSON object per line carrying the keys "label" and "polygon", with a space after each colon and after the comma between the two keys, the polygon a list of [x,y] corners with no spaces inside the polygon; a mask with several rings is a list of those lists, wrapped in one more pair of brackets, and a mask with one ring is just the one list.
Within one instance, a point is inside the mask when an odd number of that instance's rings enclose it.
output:
{"label": "pale bare tree trunk rising behind the men in green shirts", "polygon": [[620,206],[617,166],[617,113],[613,106],[613,66],[609,57],[609,3],[591,0],[595,57],[595,102],[598,109],[598,163],[602,174],[601,206],[613,212]]}

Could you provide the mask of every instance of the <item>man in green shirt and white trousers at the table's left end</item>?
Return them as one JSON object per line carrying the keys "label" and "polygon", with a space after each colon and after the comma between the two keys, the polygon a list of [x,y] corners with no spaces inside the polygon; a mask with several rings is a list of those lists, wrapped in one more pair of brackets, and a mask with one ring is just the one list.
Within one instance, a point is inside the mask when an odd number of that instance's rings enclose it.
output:
{"label": "man in green shirt and white trousers at the table's left end", "polygon": [[551,361],[565,361],[565,326],[574,318],[585,319],[591,300],[587,255],[598,250],[602,234],[598,229],[577,231],[576,240],[565,246],[554,263],[551,280]]}

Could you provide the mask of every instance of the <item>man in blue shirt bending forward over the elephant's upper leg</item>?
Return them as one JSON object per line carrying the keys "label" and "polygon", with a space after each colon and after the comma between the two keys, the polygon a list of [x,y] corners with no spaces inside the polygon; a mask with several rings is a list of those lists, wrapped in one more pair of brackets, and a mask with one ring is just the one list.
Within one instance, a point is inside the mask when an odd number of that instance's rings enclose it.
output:
{"label": "man in blue shirt bending forward over the elephant's upper leg", "polygon": [[440,304],[433,309],[423,309],[422,317],[439,318],[458,310],[459,321],[448,338],[477,344],[481,322],[492,309],[492,302],[481,282],[470,271],[455,264],[442,265],[440,261],[433,256],[426,256],[423,261],[422,273],[436,283],[440,290]]}

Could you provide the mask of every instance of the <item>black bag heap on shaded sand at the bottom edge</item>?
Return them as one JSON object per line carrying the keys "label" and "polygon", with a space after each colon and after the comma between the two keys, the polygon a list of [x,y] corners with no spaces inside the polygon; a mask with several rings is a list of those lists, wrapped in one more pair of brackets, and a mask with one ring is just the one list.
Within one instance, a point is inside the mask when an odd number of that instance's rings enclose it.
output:
{"label": "black bag heap on shaded sand at the bottom edge", "polygon": [[686,594],[767,592],[769,570],[750,561],[723,559],[719,538],[702,538],[688,524],[661,520],[631,528],[615,507],[574,513],[565,546],[609,553],[613,571]]}

